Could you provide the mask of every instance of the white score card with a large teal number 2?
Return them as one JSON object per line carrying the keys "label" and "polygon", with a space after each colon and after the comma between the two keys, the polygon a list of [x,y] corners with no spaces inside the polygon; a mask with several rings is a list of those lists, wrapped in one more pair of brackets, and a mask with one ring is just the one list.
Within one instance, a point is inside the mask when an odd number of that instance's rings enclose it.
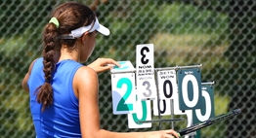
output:
{"label": "white score card with a large teal number 2", "polygon": [[[111,70],[112,110],[114,115],[136,112],[135,73],[130,61],[120,61],[120,68]],[[121,73],[126,71],[126,73]]]}

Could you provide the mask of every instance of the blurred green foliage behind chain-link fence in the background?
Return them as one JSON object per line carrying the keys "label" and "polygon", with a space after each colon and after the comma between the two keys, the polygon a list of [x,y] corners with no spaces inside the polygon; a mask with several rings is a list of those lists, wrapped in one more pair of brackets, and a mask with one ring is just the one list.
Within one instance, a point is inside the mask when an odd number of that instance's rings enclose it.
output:
{"label": "blurred green foliage behind chain-link fence in the background", "polygon": [[[51,11],[65,0],[0,2],[0,137],[35,137],[28,94],[21,81],[30,62],[41,56],[42,30]],[[78,0],[90,6],[111,34],[98,35],[98,57],[130,60],[136,45],[154,45],[154,66],[202,64],[202,82],[215,82],[215,115],[236,108],[241,114],[201,129],[202,138],[256,137],[255,0]],[[85,63],[87,64],[87,63]],[[102,127],[129,129],[126,115],[112,115],[110,74],[100,78]],[[177,117],[179,118],[179,117]],[[186,127],[174,123],[174,129]],[[170,123],[162,124],[163,129]]]}

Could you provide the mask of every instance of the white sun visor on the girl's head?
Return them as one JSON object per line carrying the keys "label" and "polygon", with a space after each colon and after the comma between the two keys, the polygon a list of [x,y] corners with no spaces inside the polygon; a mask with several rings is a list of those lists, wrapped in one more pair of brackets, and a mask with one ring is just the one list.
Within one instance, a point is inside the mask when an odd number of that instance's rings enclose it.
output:
{"label": "white sun visor on the girl's head", "polygon": [[[92,26],[93,25],[93,26]],[[96,17],[95,22],[92,22],[88,26],[82,26],[80,28],[74,29],[71,31],[71,34],[69,36],[72,36],[74,38],[79,38],[81,37],[85,32],[93,32],[97,30],[98,32],[102,33],[103,35],[108,36],[110,34],[110,31],[107,27],[99,23],[98,18]]]}

